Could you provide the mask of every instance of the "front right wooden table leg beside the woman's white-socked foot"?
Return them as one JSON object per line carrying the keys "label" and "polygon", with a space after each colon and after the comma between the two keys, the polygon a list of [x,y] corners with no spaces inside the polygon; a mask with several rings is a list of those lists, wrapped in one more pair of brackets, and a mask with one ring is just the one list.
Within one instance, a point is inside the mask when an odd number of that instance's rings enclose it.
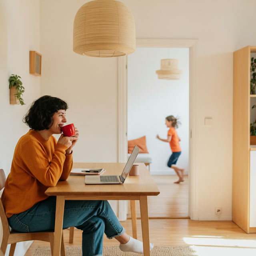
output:
{"label": "front right wooden table leg beside the woman's white-socked foot", "polygon": [[140,216],[144,256],[150,256],[149,226],[148,226],[148,197],[140,196]]}

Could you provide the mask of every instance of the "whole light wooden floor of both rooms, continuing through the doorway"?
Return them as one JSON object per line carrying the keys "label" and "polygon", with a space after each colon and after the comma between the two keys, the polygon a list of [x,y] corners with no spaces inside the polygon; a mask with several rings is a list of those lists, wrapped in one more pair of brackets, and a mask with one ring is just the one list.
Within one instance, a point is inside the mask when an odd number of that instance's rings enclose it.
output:
{"label": "whole light wooden floor of both rooms, continuing through the doorway", "polygon": [[[160,195],[148,198],[149,216],[187,216],[188,181],[173,184],[176,176],[153,176]],[[170,197],[161,192],[170,193]],[[155,200],[158,198],[158,200]],[[157,206],[157,207],[156,207]],[[139,207],[136,207],[137,211]],[[130,214],[130,213],[129,213]],[[139,216],[139,212],[138,212]],[[129,216],[128,216],[129,217]],[[126,233],[132,236],[132,221],[121,222]],[[137,220],[138,239],[142,241],[140,219]],[[150,242],[155,246],[192,245],[198,256],[255,256],[256,234],[246,234],[232,221],[195,221],[189,219],[150,219]],[[75,229],[74,243],[69,244],[69,230],[64,230],[66,246],[82,244],[82,231]],[[104,246],[118,245],[116,239],[104,237]],[[26,256],[31,256],[36,246],[49,246],[47,242],[35,241]]]}

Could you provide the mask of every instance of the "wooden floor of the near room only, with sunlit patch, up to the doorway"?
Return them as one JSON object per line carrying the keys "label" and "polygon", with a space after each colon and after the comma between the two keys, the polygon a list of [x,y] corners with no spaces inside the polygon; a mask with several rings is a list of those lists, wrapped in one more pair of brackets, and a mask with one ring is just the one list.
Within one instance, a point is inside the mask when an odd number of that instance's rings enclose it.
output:
{"label": "wooden floor of the near room only, with sunlit patch, up to the doorway", "polygon": [[[121,222],[126,233],[132,236],[132,221]],[[141,222],[137,220],[138,239],[142,241]],[[246,234],[232,221],[196,221],[188,219],[150,219],[150,242],[155,246],[193,245],[198,256],[255,256],[256,234]],[[69,244],[69,230],[64,230],[66,246],[82,244],[82,231],[75,229],[74,243]],[[31,256],[36,246],[49,246],[35,241],[26,256]],[[104,246],[119,245],[116,239],[104,237]]]}

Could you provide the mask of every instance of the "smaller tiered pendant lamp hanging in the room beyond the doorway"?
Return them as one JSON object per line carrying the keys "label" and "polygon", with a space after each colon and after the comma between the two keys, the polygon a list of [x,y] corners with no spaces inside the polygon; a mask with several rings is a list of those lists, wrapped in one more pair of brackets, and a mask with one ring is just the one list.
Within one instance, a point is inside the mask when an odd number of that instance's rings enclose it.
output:
{"label": "smaller tiered pendant lamp hanging in the room beyond the doorway", "polygon": [[156,70],[158,79],[180,79],[180,74],[183,71],[178,69],[178,60],[176,59],[164,59],[161,60],[161,69]]}

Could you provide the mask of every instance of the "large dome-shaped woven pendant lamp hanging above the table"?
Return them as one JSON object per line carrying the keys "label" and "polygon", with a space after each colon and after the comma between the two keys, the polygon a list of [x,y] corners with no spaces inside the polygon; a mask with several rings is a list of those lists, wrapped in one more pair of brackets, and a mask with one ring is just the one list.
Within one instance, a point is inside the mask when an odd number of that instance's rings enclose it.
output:
{"label": "large dome-shaped woven pendant lamp hanging above the table", "polygon": [[74,52],[93,57],[116,57],[135,51],[135,24],[122,2],[91,1],[76,13],[73,30]]}

